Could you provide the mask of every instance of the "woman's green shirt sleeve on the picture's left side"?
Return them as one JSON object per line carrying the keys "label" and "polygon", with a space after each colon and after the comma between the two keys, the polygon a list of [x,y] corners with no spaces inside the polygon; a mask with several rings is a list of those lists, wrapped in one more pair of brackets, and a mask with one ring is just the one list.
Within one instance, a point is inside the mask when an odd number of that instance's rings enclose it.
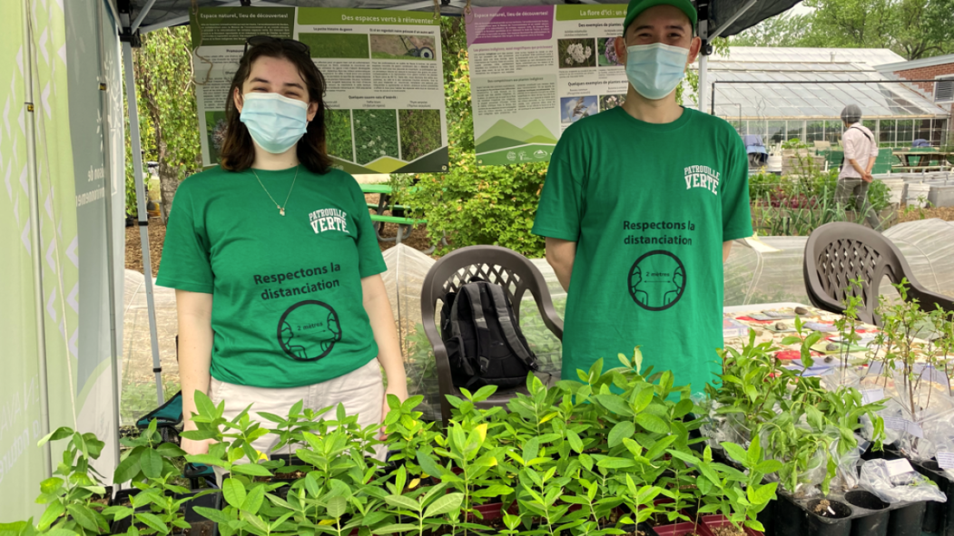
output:
{"label": "woman's green shirt sleeve on the picture's left side", "polygon": [[204,218],[197,214],[194,183],[190,182],[194,180],[187,178],[176,189],[156,285],[212,294],[215,276],[209,259],[209,237]]}

